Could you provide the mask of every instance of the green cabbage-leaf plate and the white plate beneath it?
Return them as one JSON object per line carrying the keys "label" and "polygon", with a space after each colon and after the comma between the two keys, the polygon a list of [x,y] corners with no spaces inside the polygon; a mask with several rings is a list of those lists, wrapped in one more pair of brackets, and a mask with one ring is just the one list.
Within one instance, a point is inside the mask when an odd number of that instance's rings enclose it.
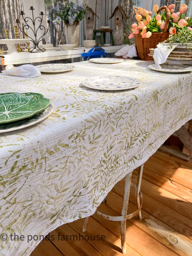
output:
{"label": "green cabbage-leaf plate and the white plate beneath it", "polygon": [[53,104],[42,94],[9,92],[0,94],[0,133],[38,123],[53,112]]}

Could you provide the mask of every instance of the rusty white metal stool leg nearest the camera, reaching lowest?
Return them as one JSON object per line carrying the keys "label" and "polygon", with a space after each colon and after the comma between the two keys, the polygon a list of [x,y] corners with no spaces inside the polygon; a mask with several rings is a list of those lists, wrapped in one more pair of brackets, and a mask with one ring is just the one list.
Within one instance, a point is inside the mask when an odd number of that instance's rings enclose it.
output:
{"label": "rusty white metal stool leg nearest the camera, reaching lowest", "polygon": [[[131,176],[132,172],[128,173],[125,176],[125,189],[123,196],[123,208],[121,211],[121,215],[127,215],[128,203],[129,203],[129,193],[131,187]],[[121,221],[121,249],[122,253],[126,253],[126,219]]]}

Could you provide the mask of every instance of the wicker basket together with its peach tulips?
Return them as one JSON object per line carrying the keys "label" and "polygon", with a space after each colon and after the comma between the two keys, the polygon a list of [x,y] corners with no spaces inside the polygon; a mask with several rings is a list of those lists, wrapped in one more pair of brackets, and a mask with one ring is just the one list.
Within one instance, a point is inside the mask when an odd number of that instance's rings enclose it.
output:
{"label": "wicker basket together with its peach tulips", "polygon": [[159,9],[158,5],[154,5],[153,17],[151,17],[152,11],[140,7],[134,8],[137,23],[131,25],[132,33],[129,39],[135,37],[137,52],[141,59],[152,60],[152,57],[148,56],[149,49],[156,48],[158,43],[168,40],[170,34],[176,34],[185,26],[191,30],[192,16],[185,17],[187,5],[182,4],[177,13],[174,13],[174,7],[175,4],[171,4]]}

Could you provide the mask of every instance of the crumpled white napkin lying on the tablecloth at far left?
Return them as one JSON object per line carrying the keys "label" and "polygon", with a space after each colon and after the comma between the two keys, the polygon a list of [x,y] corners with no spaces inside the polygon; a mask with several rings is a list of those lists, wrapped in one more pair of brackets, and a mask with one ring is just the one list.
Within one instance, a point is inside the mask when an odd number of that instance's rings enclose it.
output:
{"label": "crumpled white napkin lying on the tablecloth at far left", "polygon": [[20,67],[14,67],[12,69],[3,70],[2,73],[11,76],[29,78],[39,77],[41,75],[41,72],[39,71],[38,67],[35,67],[30,64],[25,64]]}

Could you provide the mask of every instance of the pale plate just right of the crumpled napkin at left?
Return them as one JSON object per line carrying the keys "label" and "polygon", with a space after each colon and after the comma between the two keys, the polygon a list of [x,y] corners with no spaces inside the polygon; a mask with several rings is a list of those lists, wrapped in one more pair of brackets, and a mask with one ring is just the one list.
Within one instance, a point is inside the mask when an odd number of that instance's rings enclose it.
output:
{"label": "pale plate just right of the crumpled napkin at left", "polygon": [[36,67],[38,67],[42,73],[62,73],[75,69],[75,66],[63,63],[43,64]]}

